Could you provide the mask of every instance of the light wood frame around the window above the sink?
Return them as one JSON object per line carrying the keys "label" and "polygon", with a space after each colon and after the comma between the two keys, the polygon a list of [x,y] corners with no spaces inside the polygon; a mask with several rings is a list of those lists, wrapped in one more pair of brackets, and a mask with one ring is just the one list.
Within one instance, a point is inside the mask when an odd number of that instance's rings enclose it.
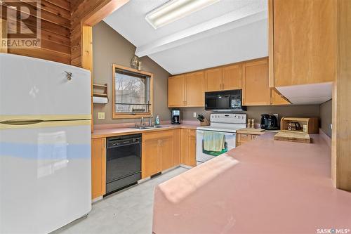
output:
{"label": "light wood frame around the window above the sink", "polygon": [[[116,112],[116,69],[126,70],[128,72],[134,72],[143,74],[150,77],[150,112],[130,113],[130,112]],[[151,72],[139,71],[131,67],[124,67],[117,64],[112,64],[112,119],[138,119],[141,117],[152,117],[154,110],[154,74]]]}

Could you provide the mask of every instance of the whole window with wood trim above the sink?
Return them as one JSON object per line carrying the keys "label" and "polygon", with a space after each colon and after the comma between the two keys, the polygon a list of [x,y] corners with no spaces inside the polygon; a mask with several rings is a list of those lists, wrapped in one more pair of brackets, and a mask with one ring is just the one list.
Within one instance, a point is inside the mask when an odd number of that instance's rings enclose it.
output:
{"label": "whole window with wood trim above the sink", "polygon": [[112,118],[140,118],[152,115],[150,72],[112,65]]}

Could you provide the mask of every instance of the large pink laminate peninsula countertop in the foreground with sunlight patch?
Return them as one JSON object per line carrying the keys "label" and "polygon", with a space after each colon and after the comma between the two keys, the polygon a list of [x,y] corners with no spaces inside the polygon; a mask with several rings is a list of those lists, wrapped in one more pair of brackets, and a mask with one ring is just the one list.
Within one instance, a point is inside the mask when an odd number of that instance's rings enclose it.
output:
{"label": "large pink laminate peninsula countertop in the foreground with sunlight patch", "polygon": [[350,233],[351,193],[333,188],[329,145],[317,134],[311,144],[273,136],[157,186],[154,233]]}

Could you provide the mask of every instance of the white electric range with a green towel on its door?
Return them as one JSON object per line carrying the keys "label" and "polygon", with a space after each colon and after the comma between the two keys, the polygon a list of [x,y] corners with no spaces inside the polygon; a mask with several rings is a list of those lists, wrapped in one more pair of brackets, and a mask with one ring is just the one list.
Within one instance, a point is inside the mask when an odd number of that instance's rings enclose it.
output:
{"label": "white electric range with a green towel on its door", "polygon": [[[213,113],[210,116],[210,126],[197,127],[197,164],[201,164],[222,155],[236,146],[236,132],[246,128],[246,114]],[[218,132],[225,136],[225,149],[222,151],[204,150],[204,132]]]}

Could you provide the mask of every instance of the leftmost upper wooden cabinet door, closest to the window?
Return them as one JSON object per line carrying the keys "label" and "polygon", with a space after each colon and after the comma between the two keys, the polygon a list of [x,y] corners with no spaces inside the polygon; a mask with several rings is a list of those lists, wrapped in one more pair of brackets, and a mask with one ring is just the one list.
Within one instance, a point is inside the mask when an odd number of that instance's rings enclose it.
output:
{"label": "leftmost upper wooden cabinet door, closest to the window", "polygon": [[185,106],[185,75],[168,77],[168,107]]}

